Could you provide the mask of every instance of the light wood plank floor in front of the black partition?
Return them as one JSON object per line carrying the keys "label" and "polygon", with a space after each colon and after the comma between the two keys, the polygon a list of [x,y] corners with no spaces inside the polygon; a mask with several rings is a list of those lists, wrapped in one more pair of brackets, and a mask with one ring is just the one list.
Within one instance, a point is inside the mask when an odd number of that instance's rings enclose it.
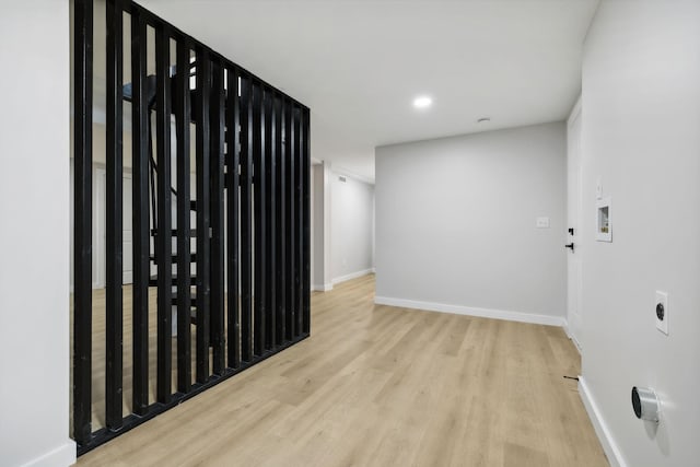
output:
{"label": "light wood plank floor in front of the black partition", "polygon": [[312,295],[312,337],[79,458],[109,466],[607,466],[560,328]]}

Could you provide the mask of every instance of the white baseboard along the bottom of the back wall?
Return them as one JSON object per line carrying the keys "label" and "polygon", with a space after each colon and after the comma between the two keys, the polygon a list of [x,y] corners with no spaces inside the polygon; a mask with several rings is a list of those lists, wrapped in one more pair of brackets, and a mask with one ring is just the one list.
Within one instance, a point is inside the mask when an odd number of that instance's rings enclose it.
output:
{"label": "white baseboard along the bottom of the back wall", "polygon": [[538,315],[535,313],[510,312],[503,310],[477,308],[463,305],[447,305],[444,303],[418,302],[415,300],[393,299],[389,296],[375,296],[377,305],[400,306],[405,308],[425,310],[429,312],[453,313],[456,315],[480,316],[482,318],[505,319],[509,322],[532,323],[537,325],[563,327],[564,318],[561,316]]}

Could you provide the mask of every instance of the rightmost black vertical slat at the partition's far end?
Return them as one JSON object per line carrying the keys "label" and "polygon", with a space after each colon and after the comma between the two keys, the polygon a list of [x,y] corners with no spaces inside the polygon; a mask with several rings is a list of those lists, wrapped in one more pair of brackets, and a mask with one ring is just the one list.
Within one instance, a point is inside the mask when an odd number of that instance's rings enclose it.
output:
{"label": "rightmost black vertical slat at the partition's far end", "polygon": [[294,323],[294,336],[302,334],[304,318],[304,156],[302,154],[302,109],[294,107],[294,166],[295,166],[295,189],[294,203],[296,206],[296,244],[294,246],[296,266],[294,270],[294,308],[296,310],[296,320]]}

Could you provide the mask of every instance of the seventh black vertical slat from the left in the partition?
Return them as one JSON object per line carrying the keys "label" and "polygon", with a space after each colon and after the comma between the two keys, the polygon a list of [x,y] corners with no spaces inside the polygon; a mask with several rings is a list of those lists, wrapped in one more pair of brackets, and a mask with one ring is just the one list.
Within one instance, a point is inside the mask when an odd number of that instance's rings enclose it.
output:
{"label": "seventh black vertical slat from the left in the partition", "polygon": [[211,89],[211,341],[212,370],[224,369],[223,312],[223,145],[224,145],[224,69],[212,66]]}

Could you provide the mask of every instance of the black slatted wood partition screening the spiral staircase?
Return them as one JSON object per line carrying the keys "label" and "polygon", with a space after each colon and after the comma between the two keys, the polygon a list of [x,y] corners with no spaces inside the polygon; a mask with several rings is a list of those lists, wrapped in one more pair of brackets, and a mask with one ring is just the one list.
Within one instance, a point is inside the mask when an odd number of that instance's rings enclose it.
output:
{"label": "black slatted wood partition screening the spiral staircase", "polygon": [[[93,56],[102,52],[93,50],[94,10],[92,0],[74,1],[72,423],[79,454],[310,334],[308,108],[140,5],[107,0],[106,147],[94,149],[106,160],[105,372],[93,374]],[[131,206],[122,202],[125,151],[131,152]],[[124,361],[127,208],[130,362]],[[127,383],[132,409],[124,413]],[[93,407],[95,385],[105,389],[104,407]],[[105,420],[97,430],[95,411]]]}

